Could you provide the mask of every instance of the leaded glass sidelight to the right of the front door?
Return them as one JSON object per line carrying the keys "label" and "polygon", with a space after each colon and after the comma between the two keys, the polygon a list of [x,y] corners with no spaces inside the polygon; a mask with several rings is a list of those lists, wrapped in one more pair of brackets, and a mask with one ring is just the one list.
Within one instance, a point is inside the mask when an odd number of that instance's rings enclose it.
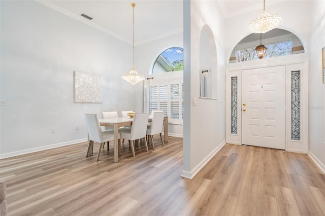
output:
{"label": "leaded glass sidelight to the right of the front door", "polygon": [[300,70],[291,71],[291,139],[300,140]]}

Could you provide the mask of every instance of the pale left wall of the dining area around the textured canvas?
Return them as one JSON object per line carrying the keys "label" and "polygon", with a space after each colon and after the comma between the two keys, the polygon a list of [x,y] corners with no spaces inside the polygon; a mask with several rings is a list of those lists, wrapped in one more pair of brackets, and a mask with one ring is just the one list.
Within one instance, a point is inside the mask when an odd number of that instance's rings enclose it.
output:
{"label": "pale left wall of the dining area around the textured canvas", "polygon": [[[85,113],[135,109],[132,45],[34,1],[0,4],[1,157],[85,140]],[[103,103],[74,103],[74,70],[103,75]]]}

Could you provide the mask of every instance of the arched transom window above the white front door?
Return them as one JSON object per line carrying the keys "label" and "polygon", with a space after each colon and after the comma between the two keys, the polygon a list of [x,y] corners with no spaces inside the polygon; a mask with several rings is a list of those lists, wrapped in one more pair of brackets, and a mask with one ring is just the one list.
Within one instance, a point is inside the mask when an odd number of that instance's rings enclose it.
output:
{"label": "arched transom window above the white front door", "polygon": [[304,46],[300,39],[292,32],[275,28],[261,35],[252,33],[241,40],[229,59],[229,63],[258,59],[255,48],[262,44],[266,46],[266,55],[263,58],[304,53]]}

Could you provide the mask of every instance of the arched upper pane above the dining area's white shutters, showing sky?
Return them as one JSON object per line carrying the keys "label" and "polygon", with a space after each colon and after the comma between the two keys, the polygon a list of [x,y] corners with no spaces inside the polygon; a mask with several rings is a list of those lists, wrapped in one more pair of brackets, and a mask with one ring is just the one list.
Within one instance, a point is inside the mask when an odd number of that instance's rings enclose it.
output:
{"label": "arched upper pane above the dining area's white shutters, showing sky", "polygon": [[184,49],[171,47],[162,52],[155,60],[152,74],[166,73],[184,69]]}

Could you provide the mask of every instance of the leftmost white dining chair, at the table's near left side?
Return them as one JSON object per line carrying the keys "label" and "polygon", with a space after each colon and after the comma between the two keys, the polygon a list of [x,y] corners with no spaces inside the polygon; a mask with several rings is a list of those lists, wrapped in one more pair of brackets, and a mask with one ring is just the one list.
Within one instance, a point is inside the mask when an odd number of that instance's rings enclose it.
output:
{"label": "leftmost white dining chair, at the table's near left side", "polygon": [[[96,161],[98,161],[102,148],[104,146],[104,142],[114,140],[114,131],[102,131],[97,114],[85,114],[85,119],[89,136],[88,150],[86,156],[88,157],[90,149],[93,148],[93,142],[99,142],[101,143],[101,145],[96,158]],[[120,138],[120,134],[118,134],[118,145],[120,145]],[[114,145],[117,145],[117,143],[114,143]]]}

